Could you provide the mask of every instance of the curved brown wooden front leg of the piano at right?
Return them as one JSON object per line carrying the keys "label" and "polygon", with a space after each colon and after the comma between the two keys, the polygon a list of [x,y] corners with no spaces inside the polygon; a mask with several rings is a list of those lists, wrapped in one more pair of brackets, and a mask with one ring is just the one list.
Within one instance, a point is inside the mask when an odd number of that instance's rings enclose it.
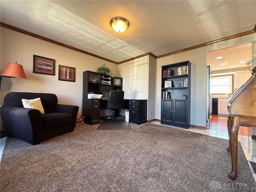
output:
{"label": "curved brown wooden front leg of the piano at right", "polygon": [[230,126],[229,126],[229,145],[230,145],[230,152],[231,152],[231,163],[232,163],[232,170],[228,174],[228,178],[231,180],[236,180],[237,176],[237,134],[239,129],[239,117],[231,117]]}

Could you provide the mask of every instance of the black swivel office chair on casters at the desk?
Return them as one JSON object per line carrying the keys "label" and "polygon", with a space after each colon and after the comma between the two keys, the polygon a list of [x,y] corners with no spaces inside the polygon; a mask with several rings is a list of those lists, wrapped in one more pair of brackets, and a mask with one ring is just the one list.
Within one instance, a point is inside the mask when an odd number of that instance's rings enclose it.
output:
{"label": "black swivel office chair on casters at the desk", "polygon": [[107,123],[107,120],[116,121],[116,124],[118,124],[118,121],[123,121],[122,118],[114,117],[115,110],[122,109],[123,100],[124,100],[124,91],[111,90],[109,92],[107,107],[112,111],[112,118],[111,119],[105,118],[104,119],[105,124]]}

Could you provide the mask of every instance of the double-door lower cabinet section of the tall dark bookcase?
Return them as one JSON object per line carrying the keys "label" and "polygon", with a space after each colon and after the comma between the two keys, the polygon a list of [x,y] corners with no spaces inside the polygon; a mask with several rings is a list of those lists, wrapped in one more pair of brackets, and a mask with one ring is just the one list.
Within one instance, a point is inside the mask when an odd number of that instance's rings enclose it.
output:
{"label": "double-door lower cabinet section of the tall dark bookcase", "polygon": [[162,99],[161,123],[187,126],[187,100]]}

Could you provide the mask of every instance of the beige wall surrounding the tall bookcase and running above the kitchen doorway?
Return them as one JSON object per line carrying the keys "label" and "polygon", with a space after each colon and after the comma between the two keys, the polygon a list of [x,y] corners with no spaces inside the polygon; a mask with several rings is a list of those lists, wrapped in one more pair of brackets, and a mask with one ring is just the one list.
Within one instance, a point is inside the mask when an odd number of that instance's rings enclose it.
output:
{"label": "beige wall surrounding the tall bookcase and running above the kitchen doorway", "polygon": [[191,110],[190,124],[206,127],[206,66],[207,52],[252,42],[252,54],[256,54],[256,33],[215,43],[202,48],[156,59],[156,119],[161,119],[161,66],[189,60],[191,62]]}

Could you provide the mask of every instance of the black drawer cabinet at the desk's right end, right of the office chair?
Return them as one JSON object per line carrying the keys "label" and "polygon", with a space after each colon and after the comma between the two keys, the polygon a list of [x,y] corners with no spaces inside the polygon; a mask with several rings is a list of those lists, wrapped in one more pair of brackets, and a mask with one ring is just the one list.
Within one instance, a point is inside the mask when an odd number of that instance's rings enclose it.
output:
{"label": "black drawer cabinet at the desk's right end, right of the office chair", "polygon": [[129,122],[138,125],[147,122],[147,100],[129,100]]}

